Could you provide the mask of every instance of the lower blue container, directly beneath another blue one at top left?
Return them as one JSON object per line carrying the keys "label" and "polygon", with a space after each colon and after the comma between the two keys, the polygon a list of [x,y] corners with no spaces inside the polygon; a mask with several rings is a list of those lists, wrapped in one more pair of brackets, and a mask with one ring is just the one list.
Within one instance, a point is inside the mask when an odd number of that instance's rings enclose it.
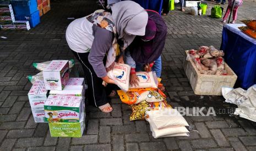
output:
{"label": "lower blue container, directly beneath another blue one at top left", "polygon": [[40,16],[39,11],[35,11],[31,15],[15,15],[16,20],[26,20],[29,21],[30,27],[35,27],[37,24],[40,23]]}

